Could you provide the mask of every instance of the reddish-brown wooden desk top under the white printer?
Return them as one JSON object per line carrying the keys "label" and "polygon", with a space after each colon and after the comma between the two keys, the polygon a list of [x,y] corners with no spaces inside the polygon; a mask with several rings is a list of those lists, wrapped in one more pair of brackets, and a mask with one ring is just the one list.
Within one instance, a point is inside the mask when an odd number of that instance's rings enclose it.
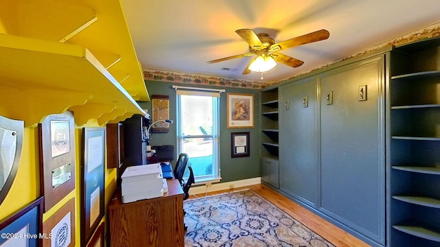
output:
{"label": "reddish-brown wooden desk top under the white printer", "polygon": [[154,202],[155,200],[165,200],[166,198],[170,198],[173,196],[181,196],[183,200],[184,190],[181,188],[181,185],[179,184],[179,180],[167,179],[166,183],[168,184],[168,192],[164,193],[164,196],[158,198],[138,200],[135,202],[128,202],[128,203],[122,203],[121,190],[118,189],[115,191],[113,198],[111,199],[111,202],[109,204],[109,209],[116,209],[119,207],[127,207],[129,205],[149,203],[149,202]]}

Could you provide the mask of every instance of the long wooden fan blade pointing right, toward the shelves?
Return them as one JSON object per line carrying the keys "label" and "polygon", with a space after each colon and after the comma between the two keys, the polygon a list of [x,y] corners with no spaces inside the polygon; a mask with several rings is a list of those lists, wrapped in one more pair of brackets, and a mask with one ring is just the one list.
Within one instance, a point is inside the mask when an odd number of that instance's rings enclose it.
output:
{"label": "long wooden fan blade pointing right, toward the shelves", "polygon": [[327,30],[318,30],[316,32],[311,32],[309,34],[304,34],[302,36],[298,36],[295,38],[290,38],[288,40],[284,40],[274,45],[271,45],[269,48],[269,52],[273,51],[281,51],[283,49],[296,47],[299,45],[305,45],[308,43],[314,43],[316,41],[325,40],[329,38],[330,33]]}

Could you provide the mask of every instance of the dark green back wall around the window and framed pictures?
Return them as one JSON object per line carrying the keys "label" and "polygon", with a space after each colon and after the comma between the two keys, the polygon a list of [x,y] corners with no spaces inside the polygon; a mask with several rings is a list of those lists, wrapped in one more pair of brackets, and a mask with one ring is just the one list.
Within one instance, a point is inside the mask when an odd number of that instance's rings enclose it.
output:
{"label": "dark green back wall around the window and framed pictures", "polygon": [[[220,167],[221,183],[260,176],[260,91],[255,89],[237,89],[218,86],[198,86],[192,84],[179,84],[169,82],[146,81],[148,93],[151,95],[168,95],[170,97],[170,119],[177,119],[177,101],[173,85],[209,87],[225,89],[220,94]],[[254,128],[227,128],[226,105],[227,93],[243,93],[254,95]],[[142,108],[148,109],[151,114],[151,102],[140,102]],[[231,132],[250,132],[250,156],[231,158]],[[170,125],[168,133],[155,133],[152,135],[151,145],[174,145],[177,148],[177,126]],[[177,154],[176,154],[177,157]]]}

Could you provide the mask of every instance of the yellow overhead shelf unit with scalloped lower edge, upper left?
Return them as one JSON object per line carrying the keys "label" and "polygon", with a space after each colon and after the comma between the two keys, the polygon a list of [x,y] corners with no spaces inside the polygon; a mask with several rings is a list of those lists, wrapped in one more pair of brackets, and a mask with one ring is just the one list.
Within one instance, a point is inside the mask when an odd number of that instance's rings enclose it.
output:
{"label": "yellow overhead shelf unit with scalloped lower edge, upper left", "polygon": [[81,126],[144,114],[144,77],[119,1],[8,1],[0,14],[0,115]]}

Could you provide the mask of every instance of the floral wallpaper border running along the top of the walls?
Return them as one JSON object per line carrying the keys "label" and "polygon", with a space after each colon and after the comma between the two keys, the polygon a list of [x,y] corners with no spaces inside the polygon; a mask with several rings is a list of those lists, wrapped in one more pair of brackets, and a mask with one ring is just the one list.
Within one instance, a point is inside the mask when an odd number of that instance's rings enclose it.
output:
{"label": "floral wallpaper border running along the top of the walls", "polygon": [[322,64],[313,69],[309,69],[308,71],[304,71],[302,73],[298,73],[289,78],[285,78],[282,80],[272,81],[272,82],[261,82],[254,80],[239,80],[235,78],[222,78],[216,76],[206,76],[206,75],[198,75],[192,73],[179,73],[179,72],[171,72],[171,71],[160,71],[154,69],[142,69],[144,71],[144,79],[145,80],[154,80],[159,82],[180,82],[187,84],[195,84],[195,85],[209,85],[209,86],[226,86],[226,87],[238,87],[242,89],[263,89],[267,86],[271,86],[273,84],[278,84],[280,82],[284,82],[286,80],[296,78],[300,75],[305,75],[307,73],[311,73],[318,69],[322,69],[328,67],[332,64],[336,64],[338,62],[342,62],[344,60],[348,60],[349,58],[354,58],[356,56],[361,56],[364,54],[368,54],[372,51],[380,49],[382,47],[386,47],[388,45],[398,46],[404,45],[407,43],[412,43],[417,40],[423,40],[426,38],[433,38],[440,36],[440,23],[435,23],[428,27],[424,27],[421,30],[417,30],[415,32],[411,32],[410,34],[406,34],[399,38],[395,38],[393,40],[389,40],[387,42],[381,43],[379,45],[375,45],[373,47],[368,47],[363,51],[360,51],[355,54],[350,54],[349,56],[345,56],[344,58],[340,58],[333,62],[329,62],[327,64]]}

